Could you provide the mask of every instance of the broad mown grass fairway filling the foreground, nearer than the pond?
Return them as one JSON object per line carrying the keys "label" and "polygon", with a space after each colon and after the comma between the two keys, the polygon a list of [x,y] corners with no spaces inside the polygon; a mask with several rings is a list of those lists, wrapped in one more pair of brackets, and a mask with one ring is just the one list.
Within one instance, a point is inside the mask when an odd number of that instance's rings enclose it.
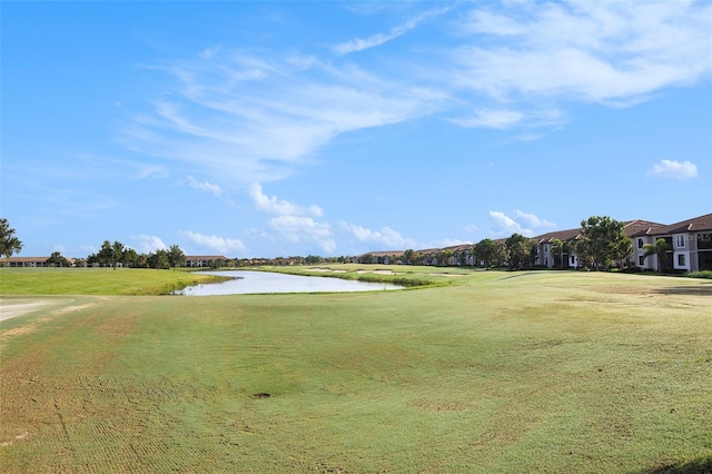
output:
{"label": "broad mown grass fairway filling the foreground, nearer than the pond", "polygon": [[712,285],[461,273],[363,294],[52,296],[2,322],[0,471],[712,468]]}

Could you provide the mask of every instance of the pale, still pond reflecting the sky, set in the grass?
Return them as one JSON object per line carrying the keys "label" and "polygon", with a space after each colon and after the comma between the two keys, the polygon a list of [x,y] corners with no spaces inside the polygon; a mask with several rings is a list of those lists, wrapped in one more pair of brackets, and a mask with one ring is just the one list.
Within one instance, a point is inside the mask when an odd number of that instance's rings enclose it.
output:
{"label": "pale, still pond reflecting the sky, set in the grass", "polygon": [[268,271],[227,270],[200,271],[202,275],[233,277],[222,283],[196,285],[176,292],[177,295],[212,296],[212,295],[249,295],[260,293],[335,293],[335,292],[378,292],[384,289],[402,289],[402,286],[356,282],[329,277],[310,277],[285,275]]}

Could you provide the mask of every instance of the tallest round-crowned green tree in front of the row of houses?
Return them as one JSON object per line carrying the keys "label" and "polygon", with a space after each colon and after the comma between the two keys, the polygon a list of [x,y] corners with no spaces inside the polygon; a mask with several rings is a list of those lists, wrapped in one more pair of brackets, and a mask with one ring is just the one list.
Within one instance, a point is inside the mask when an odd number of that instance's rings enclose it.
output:
{"label": "tallest round-crowned green tree in front of the row of houses", "polygon": [[625,235],[625,225],[609,216],[591,216],[581,221],[584,248],[593,260],[593,267],[607,269],[615,260],[633,253],[633,243]]}

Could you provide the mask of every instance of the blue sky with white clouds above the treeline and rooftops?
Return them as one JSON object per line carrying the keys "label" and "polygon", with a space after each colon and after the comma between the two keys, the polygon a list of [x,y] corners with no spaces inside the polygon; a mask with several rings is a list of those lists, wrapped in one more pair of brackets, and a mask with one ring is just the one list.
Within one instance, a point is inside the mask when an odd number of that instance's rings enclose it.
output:
{"label": "blue sky with white clouds above the treeline and rooftops", "polygon": [[358,255],[712,210],[712,3],[2,2],[20,255]]}

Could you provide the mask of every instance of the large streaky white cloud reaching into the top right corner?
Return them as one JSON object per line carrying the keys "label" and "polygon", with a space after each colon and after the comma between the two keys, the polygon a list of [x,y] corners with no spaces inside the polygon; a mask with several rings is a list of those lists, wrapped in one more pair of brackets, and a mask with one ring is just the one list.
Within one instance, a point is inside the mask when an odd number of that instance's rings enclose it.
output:
{"label": "large streaky white cloud reaching into the top right corner", "polygon": [[[712,73],[704,2],[477,4],[455,51],[457,85],[496,99],[630,105]],[[486,38],[486,40],[483,39]]]}

